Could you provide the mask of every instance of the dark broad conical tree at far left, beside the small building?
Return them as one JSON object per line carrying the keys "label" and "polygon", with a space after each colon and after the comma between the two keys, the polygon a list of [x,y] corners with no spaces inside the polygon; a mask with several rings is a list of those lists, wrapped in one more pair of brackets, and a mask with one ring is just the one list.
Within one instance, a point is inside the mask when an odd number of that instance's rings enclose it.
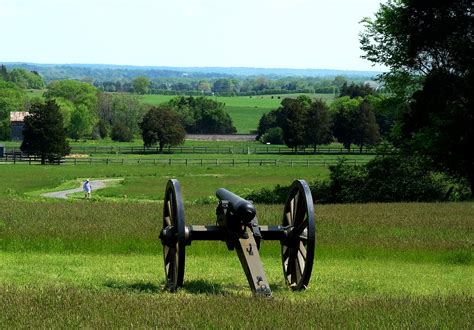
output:
{"label": "dark broad conical tree at far left, beside the small building", "polygon": [[53,100],[35,104],[30,115],[25,117],[21,151],[40,156],[44,165],[46,160],[64,157],[70,150],[57,104]]}

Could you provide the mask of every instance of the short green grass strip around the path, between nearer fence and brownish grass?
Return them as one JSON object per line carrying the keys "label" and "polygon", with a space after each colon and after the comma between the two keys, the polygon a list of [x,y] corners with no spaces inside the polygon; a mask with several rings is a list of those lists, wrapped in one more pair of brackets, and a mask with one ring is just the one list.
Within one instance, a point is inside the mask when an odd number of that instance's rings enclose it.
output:
{"label": "short green grass strip around the path, between nearer fence and brownish grass", "polygon": [[238,193],[251,189],[289,185],[294,179],[308,181],[328,175],[326,167],[186,167],[122,165],[0,165],[0,198],[38,196],[41,192],[62,187],[77,178],[124,177],[122,185],[98,191],[97,197],[158,200],[163,198],[168,179],[178,178],[185,199],[194,201],[214,196],[220,187]]}

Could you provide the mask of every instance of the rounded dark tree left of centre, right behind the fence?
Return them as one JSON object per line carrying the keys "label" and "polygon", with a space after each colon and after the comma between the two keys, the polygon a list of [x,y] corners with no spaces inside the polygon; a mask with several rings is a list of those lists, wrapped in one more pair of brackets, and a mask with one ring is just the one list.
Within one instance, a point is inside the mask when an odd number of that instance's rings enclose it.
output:
{"label": "rounded dark tree left of centre, right behind the fence", "polygon": [[152,107],[140,123],[143,143],[146,147],[159,144],[160,152],[165,145],[178,145],[184,142],[186,132],[178,115],[168,104]]}

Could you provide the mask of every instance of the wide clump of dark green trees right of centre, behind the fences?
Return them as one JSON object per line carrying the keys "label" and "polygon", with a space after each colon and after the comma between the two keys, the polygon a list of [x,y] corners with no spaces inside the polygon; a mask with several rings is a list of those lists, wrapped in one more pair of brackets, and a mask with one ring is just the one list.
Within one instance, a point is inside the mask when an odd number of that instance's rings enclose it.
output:
{"label": "wide clump of dark green trees right of centre, behind the fences", "polygon": [[[391,125],[390,108],[384,111],[385,96],[375,95],[367,85],[347,85],[330,105],[302,95],[286,98],[278,109],[264,114],[258,124],[257,139],[263,143],[285,143],[294,148],[318,145],[335,140],[345,148],[379,142]],[[387,112],[389,115],[387,115]]]}

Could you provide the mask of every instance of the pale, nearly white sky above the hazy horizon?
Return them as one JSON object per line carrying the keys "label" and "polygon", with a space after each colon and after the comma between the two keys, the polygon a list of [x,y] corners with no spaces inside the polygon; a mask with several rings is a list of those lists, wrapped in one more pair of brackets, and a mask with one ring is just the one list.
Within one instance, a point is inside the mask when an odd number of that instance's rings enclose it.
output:
{"label": "pale, nearly white sky above the hazy horizon", "polygon": [[0,0],[0,62],[381,70],[383,0]]}

